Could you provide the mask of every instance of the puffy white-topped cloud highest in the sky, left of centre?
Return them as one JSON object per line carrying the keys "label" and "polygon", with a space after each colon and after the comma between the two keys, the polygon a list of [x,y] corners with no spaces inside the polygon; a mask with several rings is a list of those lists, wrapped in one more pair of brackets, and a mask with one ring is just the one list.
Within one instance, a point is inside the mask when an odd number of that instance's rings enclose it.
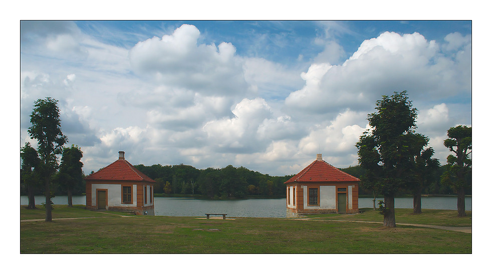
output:
{"label": "puffy white-topped cloud highest in the sky, left of centre", "polygon": [[230,43],[198,45],[200,32],[182,25],[172,35],[139,42],[130,50],[132,68],[157,83],[204,95],[244,94],[242,61]]}

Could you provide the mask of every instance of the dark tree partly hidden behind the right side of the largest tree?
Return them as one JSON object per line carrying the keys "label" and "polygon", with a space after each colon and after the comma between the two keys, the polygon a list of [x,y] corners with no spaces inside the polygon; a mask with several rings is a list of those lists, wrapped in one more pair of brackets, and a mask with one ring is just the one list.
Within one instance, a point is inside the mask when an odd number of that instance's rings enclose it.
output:
{"label": "dark tree partly hidden behind the right side of the largest tree", "polygon": [[[427,145],[428,138],[425,138],[425,145]],[[413,180],[409,186],[413,194],[413,213],[422,213],[422,190],[433,182],[439,169],[439,160],[431,158],[432,155],[434,149],[429,147],[415,157]]]}

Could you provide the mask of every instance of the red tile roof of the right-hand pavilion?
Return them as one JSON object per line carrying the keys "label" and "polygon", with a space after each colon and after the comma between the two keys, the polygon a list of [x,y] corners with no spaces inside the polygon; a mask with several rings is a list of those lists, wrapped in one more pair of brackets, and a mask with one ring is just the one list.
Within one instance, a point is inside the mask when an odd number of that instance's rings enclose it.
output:
{"label": "red tile roof of the right-hand pavilion", "polygon": [[354,182],[360,181],[323,160],[315,160],[296,176],[285,183],[292,182]]}

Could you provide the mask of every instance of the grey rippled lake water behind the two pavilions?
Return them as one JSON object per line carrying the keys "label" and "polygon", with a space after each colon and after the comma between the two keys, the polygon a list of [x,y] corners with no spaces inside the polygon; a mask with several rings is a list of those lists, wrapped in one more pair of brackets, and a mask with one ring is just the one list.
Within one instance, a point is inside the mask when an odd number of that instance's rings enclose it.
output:
{"label": "grey rippled lake water behind the two pavilions", "polygon": [[[378,200],[376,198],[376,206]],[[36,204],[45,201],[35,197]],[[85,204],[85,196],[73,196],[73,204]],[[53,198],[55,204],[68,204],[67,196]],[[27,205],[27,196],[21,196],[21,205]],[[372,198],[359,198],[359,208],[372,208]],[[395,198],[396,208],[413,208],[413,198]],[[456,210],[456,197],[422,197],[422,209]],[[471,197],[465,198],[465,209],[471,210]],[[190,198],[154,197],[155,215],[205,216],[206,213],[225,213],[227,217],[277,217],[286,216],[286,199],[206,200]]]}

